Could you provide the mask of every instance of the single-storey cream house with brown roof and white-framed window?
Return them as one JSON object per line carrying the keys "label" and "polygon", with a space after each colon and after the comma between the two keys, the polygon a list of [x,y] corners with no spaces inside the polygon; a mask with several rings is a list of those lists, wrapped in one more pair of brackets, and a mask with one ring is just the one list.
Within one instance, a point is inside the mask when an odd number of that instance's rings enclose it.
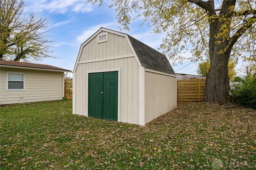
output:
{"label": "single-storey cream house with brown roof and white-framed window", "polygon": [[64,72],[51,65],[0,60],[0,104],[61,100]]}

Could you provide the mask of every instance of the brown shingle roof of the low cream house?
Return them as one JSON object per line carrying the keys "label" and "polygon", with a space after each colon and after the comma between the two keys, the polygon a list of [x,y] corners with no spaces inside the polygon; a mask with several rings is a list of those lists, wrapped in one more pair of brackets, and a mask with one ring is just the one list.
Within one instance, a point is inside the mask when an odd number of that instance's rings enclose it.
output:
{"label": "brown shingle roof of the low cream house", "polygon": [[24,63],[24,62],[8,61],[8,60],[0,60],[0,65],[1,66],[6,65],[6,66],[29,67],[29,68],[37,68],[37,69],[50,69],[50,70],[59,70],[59,71],[72,72],[70,70],[62,69],[60,67],[54,67],[52,65]]}

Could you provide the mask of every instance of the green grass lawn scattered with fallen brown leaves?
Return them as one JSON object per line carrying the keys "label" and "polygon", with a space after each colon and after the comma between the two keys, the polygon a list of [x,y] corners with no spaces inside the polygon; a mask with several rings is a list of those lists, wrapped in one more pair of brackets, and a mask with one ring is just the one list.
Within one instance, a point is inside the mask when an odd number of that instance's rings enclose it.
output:
{"label": "green grass lawn scattered with fallen brown leaves", "polygon": [[256,169],[256,110],[206,103],[145,127],[72,115],[72,101],[1,106],[4,169]]}

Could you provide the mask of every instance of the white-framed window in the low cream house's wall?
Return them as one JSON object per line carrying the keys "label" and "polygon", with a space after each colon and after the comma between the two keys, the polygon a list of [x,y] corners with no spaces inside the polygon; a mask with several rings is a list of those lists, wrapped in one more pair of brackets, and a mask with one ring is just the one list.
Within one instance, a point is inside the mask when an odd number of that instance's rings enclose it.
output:
{"label": "white-framed window in the low cream house's wall", "polygon": [[7,89],[8,90],[23,90],[24,87],[24,73],[7,73]]}

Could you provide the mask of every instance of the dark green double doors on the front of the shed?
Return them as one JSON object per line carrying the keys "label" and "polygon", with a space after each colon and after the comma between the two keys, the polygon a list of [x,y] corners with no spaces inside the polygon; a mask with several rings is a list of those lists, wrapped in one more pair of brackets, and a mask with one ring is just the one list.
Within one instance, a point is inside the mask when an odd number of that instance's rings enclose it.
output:
{"label": "dark green double doors on the front of the shed", "polygon": [[117,121],[118,71],[88,76],[88,116]]}

